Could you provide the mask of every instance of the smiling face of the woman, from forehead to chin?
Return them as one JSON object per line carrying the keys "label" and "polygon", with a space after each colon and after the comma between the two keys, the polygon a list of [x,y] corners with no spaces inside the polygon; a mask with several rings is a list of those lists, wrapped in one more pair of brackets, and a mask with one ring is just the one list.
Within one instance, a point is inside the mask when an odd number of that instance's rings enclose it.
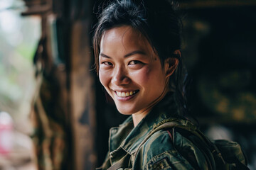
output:
{"label": "smiling face of the woman, from forehead to chin", "polygon": [[159,57],[130,26],[102,35],[99,65],[100,82],[122,114],[145,111],[164,92],[166,73]]}

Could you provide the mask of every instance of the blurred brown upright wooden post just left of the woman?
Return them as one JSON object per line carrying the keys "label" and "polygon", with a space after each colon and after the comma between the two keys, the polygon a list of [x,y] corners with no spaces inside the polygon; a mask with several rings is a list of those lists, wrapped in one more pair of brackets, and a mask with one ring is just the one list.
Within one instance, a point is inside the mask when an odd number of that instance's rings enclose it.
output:
{"label": "blurred brown upright wooden post just left of the woman", "polygon": [[71,38],[71,103],[76,169],[95,169],[95,86],[91,74],[90,20],[77,21]]}

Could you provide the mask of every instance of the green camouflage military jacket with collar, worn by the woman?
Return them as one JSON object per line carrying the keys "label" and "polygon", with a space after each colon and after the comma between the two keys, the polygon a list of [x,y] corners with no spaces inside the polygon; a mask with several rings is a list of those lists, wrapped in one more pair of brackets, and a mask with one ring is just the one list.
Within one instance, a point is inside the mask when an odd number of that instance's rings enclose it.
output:
{"label": "green camouflage military jacket with collar, worn by the woman", "polygon": [[213,156],[205,157],[180,132],[161,129],[149,136],[172,118],[179,118],[178,109],[173,95],[168,94],[135,128],[132,116],[111,128],[107,159],[99,169],[209,169],[209,162],[214,164]]}

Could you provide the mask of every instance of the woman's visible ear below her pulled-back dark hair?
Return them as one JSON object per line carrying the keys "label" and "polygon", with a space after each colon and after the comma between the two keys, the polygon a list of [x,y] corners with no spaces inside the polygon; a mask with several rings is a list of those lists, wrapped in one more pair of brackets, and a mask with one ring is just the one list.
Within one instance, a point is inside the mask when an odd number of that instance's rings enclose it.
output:
{"label": "woman's visible ear below her pulled-back dark hair", "polygon": [[[176,50],[174,52],[174,55],[177,55],[178,57],[181,57],[181,51]],[[171,74],[174,73],[177,66],[178,66],[178,58],[169,57],[164,61],[164,71],[166,72],[166,78],[170,77]]]}

